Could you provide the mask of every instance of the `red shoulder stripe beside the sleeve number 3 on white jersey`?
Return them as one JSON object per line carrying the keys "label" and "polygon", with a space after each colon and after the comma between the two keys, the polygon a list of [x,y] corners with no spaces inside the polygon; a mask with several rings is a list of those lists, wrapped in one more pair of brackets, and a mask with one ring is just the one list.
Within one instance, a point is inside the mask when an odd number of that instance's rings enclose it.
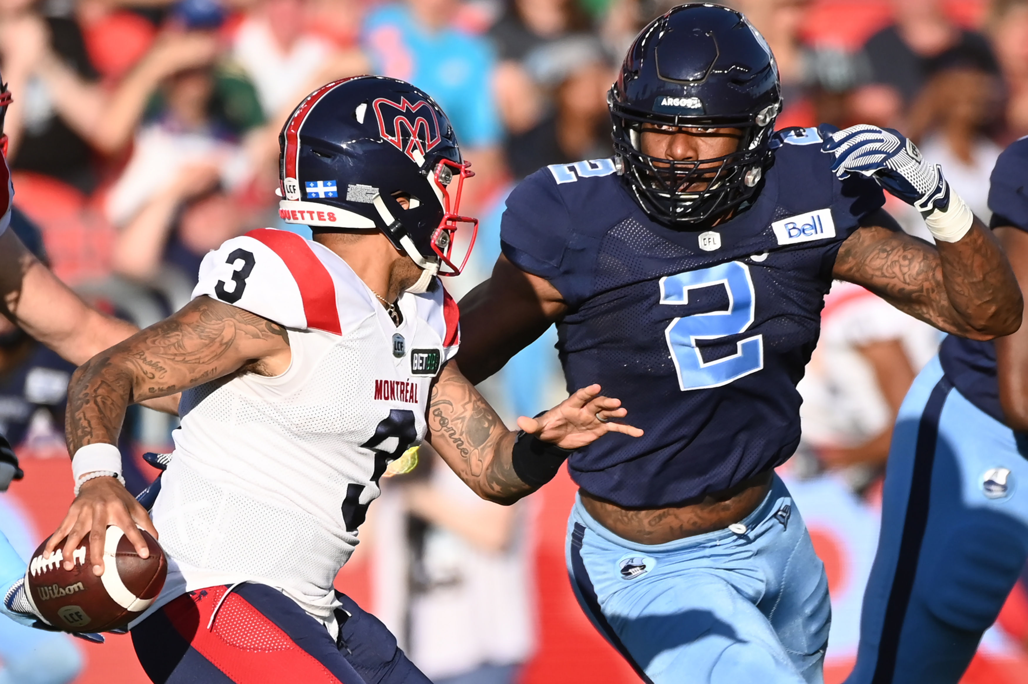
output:
{"label": "red shoulder stripe beside the sleeve number 3 on white jersey", "polygon": [[307,327],[341,335],[339,310],[335,303],[335,283],[325,264],[310,251],[307,241],[295,232],[273,228],[251,230],[247,237],[263,243],[285,261],[300,288]]}

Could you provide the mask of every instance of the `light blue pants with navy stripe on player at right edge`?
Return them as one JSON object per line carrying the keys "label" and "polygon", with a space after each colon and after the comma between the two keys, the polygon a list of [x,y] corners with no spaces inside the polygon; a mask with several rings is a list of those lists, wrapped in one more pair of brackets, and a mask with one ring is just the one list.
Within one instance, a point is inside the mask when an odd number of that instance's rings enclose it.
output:
{"label": "light blue pants with navy stripe on player at right edge", "polygon": [[933,359],[896,418],[847,684],[956,684],[1028,556],[1028,449]]}

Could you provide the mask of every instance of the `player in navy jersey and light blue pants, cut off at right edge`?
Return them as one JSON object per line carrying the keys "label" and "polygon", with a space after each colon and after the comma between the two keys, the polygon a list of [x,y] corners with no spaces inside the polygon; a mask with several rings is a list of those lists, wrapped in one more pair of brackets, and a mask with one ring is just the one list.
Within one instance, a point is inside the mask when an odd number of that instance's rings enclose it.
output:
{"label": "player in navy jersey and light blue pants, cut off at right edge", "polygon": [[[1028,138],[996,161],[992,227],[1028,287]],[[1028,329],[948,336],[911,387],[848,684],[960,681],[1028,559]]]}

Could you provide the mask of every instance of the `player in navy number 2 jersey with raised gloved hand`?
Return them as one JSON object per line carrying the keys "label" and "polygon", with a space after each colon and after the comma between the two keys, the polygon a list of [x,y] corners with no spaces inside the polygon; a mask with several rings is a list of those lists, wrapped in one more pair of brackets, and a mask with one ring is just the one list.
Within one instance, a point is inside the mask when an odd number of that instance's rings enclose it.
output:
{"label": "player in navy number 2 jersey with raised gloved hand", "polygon": [[[648,25],[609,96],[614,159],[543,169],[507,200],[503,255],[462,302],[472,382],[556,323],[568,387],[645,430],[568,461],[579,602],[647,682],[820,682],[828,584],[774,475],[833,279],[975,339],[1021,322],[997,242],[901,134],[774,133],[778,75],[731,9]],[[885,214],[917,207],[938,247]],[[600,418],[611,418],[600,412]]]}

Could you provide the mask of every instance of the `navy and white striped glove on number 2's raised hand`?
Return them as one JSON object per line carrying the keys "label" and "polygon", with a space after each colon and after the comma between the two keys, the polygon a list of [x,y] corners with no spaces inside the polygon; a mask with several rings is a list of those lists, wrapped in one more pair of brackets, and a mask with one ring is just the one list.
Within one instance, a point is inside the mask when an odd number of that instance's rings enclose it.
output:
{"label": "navy and white striped glove on number 2's raised hand", "polygon": [[913,142],[898,131],[877,125],[818,127],[821,151],[835,156],[832,171],[840,179],[851,173],[877,180],[890,194],[921,212],[937,240],[955,243],[970,230],[970,209],[950,189],[939,165],[928,164]]}

